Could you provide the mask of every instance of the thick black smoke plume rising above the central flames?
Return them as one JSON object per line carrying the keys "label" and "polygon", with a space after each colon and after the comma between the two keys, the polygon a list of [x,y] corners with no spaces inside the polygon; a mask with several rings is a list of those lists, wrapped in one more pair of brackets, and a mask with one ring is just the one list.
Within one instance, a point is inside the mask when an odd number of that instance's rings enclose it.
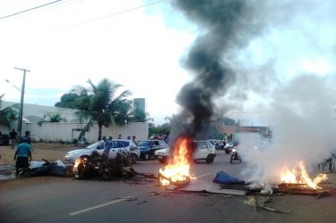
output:
{"label": "thick black smoke plume rising above the central flames", "polygon": [[255,11],[248,1],[181,0],[173,4],[205,33],[197,37],[183,62],[195,77],[177,96],[182,111],[172,122],[172,135],[204,139],[214,115],[214,99],[224,95],[236,79],[223,58],[232,49],[247,45],[259,24],[253,20]]}

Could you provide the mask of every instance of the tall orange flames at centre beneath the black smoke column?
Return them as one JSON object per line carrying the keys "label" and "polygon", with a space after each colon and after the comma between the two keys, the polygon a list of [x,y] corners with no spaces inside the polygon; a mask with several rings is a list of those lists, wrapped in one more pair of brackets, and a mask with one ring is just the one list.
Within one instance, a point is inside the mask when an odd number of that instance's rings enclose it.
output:
{"label": "tall orange flames at centre beneath the black smoke column", "polygon": [[194,178],[189,172],[192,162],[190,145],[192,145],[192,140],[189,138],[180,138],[177,141],[168,165],[164,169],[159,169],[159,176],[161,176],[159,180],[162,186]]}

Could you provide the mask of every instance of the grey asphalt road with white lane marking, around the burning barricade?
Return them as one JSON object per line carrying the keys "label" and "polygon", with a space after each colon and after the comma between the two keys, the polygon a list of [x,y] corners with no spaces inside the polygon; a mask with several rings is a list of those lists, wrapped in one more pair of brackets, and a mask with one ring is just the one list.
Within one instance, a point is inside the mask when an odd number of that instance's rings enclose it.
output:
{"label": "grey asphalt road with white lane marking, around the burning barricade", "polygon": [[[192,172],[212,182],[224,170],[244,167],[218,153],[213,164],[199,162]],[[138,172],[158,173],[158,161],[139,161]],[[265,197],[261,197],[262,199]],[[272,196],[271,206],[289,214],[259,210],[239,200],[247,196],[166,190],[154,179],[99,181],[23,178],[0,183],[0,222],[335,222],[335,196]]]}

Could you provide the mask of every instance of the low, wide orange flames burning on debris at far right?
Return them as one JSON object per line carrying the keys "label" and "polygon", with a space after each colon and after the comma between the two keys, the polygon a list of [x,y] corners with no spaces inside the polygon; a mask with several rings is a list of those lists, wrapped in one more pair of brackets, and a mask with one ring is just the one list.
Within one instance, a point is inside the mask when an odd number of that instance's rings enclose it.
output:
{"label": "low, wide orange flames burning on debris at far right", "polygon": [[303,162],[299,162],[298,166],[287,169],[281,174],[281,182],[290,184],[305,184],[313,189],[320,189],[318,186],[323,180],[327,179],[326,174],[318,174],[315,178],[309,178],[307,170]]}

